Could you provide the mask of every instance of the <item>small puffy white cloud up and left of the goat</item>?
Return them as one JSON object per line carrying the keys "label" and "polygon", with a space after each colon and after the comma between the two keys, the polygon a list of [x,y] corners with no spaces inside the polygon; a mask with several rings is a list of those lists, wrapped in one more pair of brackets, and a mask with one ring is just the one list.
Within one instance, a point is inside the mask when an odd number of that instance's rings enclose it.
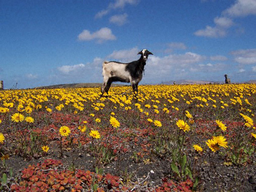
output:
{"label": "small puffy white cloud up and left of the goat", "polygon": [[101,28],[99,31],[91,33],[88,30],[84,30],[78,35],[78,39],[81,41],[97,40],[98,43],[102,43],[106,40],[116,40],[116,36],[113,35],[111,29]]}

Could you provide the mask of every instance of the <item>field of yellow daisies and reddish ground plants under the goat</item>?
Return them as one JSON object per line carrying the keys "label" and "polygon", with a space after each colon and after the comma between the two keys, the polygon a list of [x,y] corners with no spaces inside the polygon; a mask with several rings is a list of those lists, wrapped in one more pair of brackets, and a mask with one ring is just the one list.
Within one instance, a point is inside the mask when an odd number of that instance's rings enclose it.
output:
{"label": "field of yellow daisies and reddish ground plants under the goat", "polygon": [[0,92],[1,191],[250,191],[255,84]]}

